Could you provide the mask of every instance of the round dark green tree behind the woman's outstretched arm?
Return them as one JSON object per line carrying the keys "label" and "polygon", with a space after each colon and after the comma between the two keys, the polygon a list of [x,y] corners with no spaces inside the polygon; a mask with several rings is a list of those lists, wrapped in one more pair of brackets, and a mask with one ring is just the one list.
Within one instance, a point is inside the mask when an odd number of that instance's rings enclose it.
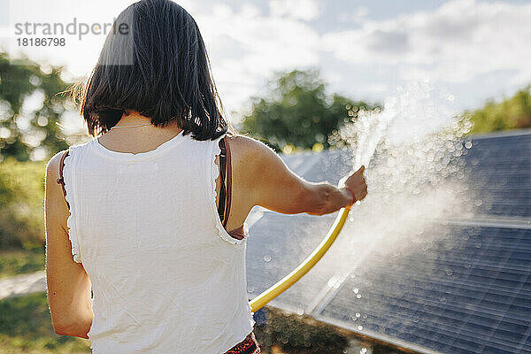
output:
{"label": "round dark green tree behind the woman's outstretched arm", "polygon": [[378,105],[353,101],[337,94],[327,96],[318,70],[277,73],[269,82],[267,97],[251,97],[252,109],[243,117],[242,131],[264,140],[275,150],[286,146],[327,149],[329,138],[361,110]]}

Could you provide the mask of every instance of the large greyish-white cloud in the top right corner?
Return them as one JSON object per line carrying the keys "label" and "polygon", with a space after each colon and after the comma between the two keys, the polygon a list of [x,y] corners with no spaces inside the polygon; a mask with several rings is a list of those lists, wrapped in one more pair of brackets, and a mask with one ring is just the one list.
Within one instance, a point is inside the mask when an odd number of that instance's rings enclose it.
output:
{"label": "large greyish-white cloud in the top right corner", "polygon": [[323,47],[353,64],[398,65],[404,80],[470,81],[515,70],[531,79],[531,4],[452,1],[431,12],[368,20],[323,35]]}

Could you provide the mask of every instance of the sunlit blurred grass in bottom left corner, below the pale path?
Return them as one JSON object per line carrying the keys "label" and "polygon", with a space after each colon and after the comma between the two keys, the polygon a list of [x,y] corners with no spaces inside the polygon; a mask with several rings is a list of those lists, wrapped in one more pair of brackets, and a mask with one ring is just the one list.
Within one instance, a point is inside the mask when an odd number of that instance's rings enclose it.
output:
{"label": "sunlit blurred grass in bottom left corner, below the pale path", "polygon": [[57,335],[46,293],[0,300],[0,352],[10,354],[90,353],[86,339]]}

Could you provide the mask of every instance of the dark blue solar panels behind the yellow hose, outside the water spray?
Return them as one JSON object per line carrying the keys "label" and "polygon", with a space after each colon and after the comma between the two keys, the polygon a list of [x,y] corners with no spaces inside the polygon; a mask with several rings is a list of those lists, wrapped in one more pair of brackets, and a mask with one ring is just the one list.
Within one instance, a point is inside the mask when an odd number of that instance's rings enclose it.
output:
{"label": "dark blue solar panels behind the yellow hose, outside the water spray", "polygon": [[[271,304],[308,312],[309,304],[330,289],[329,280],[340,269],[352,268],[310,315],[427,351],[531,352],[530,156],[531,133],[524,132],[472,138],[472,148],[461,157],[470,190],[481,197],[481,203],[472,205],[471,220],[516,220],[513,227],[429,220],[423,231],[429,237],[414,247],[395,252],[375,248],[363,261],[338,256],[351,243],[343,231],[319,264]],[[307,181],[335,184],[350,170],[350,153],[344,150],[283,158]],[[250,298],[299,265],[335,215],[264,212],[250,227],[247,244]],[[367,247],[354,245],[360,251]]]}

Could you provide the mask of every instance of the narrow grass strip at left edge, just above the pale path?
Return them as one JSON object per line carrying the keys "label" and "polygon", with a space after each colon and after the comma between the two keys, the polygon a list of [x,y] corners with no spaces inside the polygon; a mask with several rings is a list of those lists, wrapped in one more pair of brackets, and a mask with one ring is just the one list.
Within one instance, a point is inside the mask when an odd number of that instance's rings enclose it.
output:
{"label": "narrow grass strip at left edge, just above the pale path", "polygon": [[0,279],[44,270],[43,250],[0,250]]}

